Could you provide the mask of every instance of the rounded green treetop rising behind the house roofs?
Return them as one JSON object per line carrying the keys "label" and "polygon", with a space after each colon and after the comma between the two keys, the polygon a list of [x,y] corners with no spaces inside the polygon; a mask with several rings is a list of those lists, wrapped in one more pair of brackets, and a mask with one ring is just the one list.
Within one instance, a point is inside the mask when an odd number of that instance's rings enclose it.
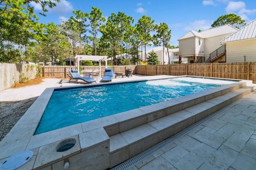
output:
{"label": "rounded green treetop rising behind the house roofs", "polygon": [[219,27],[221,25],[230,24],[236,28],[241,28],[245,25],[245,21],[241,16],[237,16],[234,13],[220,16],[216,21],[212,23],[212,28]]}

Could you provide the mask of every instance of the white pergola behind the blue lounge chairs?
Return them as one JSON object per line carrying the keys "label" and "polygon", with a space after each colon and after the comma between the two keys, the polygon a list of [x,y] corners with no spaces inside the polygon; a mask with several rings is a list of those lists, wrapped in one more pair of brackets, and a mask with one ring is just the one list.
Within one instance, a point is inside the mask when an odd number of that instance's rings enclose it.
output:
{"label": "white pergola behind the blue lounge chairs", "polygon": [[106,68],[107,68],[107,65],[108,65],[107,57],[108,56],[101,56],[101,55],[76,55],[75,59],[76,59],[76,63],[77,63],[78,73],[80,73],[79,72],[79,61],[83,61],[83,60],[99,62],[99,67],[100,67],[99,70],[100,70],[100,73],[101,73],[101,61],[105,61],[105,65],[106,65]]}

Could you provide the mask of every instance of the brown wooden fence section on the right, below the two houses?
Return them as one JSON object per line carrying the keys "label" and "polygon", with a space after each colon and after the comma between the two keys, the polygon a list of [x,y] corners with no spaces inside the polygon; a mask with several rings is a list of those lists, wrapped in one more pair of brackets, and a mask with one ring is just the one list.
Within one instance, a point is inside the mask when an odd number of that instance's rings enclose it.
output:
{"label": "brown wooden fence section on the right, below the two houses", "polygon": [[137,65],[136,67],[136,73],[142,75],[194,75],[256,82],[256,62]]}

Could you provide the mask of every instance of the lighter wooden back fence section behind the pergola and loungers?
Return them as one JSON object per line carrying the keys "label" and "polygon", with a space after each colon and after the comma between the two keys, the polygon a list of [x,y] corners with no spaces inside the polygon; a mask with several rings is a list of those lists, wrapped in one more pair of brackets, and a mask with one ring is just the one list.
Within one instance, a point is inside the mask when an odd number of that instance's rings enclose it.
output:
{"label": "lighter wooden back fence section behind the pergola and loungers", "polygon": [[[43,77],[49,78],[67,78],[67,73],[69,70],[77,70],[76,66],[43,66],[42,73]],[[135,65],[115,65],[113,66],[114,72],[125,73],[126,69],[131,69],[132,73],[136,73]],[[99,66],[87,66],[83,65],[82,70],[99,70]],[[105,71],[105,66],[101,66],[100,75],[103,76]]]}

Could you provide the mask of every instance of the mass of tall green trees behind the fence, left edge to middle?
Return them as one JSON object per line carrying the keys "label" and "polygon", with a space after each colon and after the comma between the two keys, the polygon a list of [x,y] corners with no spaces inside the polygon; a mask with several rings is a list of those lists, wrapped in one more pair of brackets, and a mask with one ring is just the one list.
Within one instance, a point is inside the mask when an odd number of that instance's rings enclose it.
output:
{"label": "mass of tall green trees behind the fence, left edge to middle", "polygon": [[106,55],[111,58],[111,64],[138,64],[142,60],[141,47],[146,52],[158,28],[146,15],[137,23],[123,12],[111,13],[105,19],[97,7],[88,13],[73,11],[61,24],[39,23],[33,6],[40,4],[40,15],[46,16],[47,9],[59,1],[0,1],[0,62],[63,65],[65,58],[83,54]]}

